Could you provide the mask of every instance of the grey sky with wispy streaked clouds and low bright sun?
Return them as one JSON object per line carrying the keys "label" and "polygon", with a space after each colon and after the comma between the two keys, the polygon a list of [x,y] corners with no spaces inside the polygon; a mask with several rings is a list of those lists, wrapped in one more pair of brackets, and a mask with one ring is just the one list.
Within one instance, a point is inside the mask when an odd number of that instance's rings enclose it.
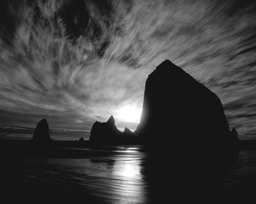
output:
{"label": "grey sky with wispy streaked clouds and low bright sun", "polygon": [[230,129],[256,139],[256,3],[3,0],[0,125],[135,130],[145,81],[169,59],[215,92]]}

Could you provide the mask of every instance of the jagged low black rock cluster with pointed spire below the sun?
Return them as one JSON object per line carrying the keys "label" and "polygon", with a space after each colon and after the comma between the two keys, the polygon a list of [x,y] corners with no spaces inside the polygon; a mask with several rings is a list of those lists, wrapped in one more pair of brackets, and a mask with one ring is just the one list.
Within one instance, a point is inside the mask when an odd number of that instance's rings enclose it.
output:
{"label": "jagged low black rock cluster with pointed spire below the sun", "polygon": [[93,124],[89,142],[91,144],[133,144],[137,140],[127,127],[124,132],[119,131],[115,125],[115,119],[111,115],[108,121],[96,121]]}

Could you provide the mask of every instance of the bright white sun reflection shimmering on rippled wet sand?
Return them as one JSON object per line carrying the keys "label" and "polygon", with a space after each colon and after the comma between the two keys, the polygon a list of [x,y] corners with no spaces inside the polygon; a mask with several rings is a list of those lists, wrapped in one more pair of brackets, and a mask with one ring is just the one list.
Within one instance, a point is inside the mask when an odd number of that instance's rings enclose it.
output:
{"label": "bright white sun reflection shimmering on rippled wet sand", "polygon": [[97,168],[91,173],[100,171],[101,175],[105,175],[97,177],[97,186],[94,186],[97,187],[97,196],[104,199],[104,203],[146,201],[147,185],[141,174],[144,154],[136,147],[118,147],[113,152],[111,159],[98,157],[90,160]]}

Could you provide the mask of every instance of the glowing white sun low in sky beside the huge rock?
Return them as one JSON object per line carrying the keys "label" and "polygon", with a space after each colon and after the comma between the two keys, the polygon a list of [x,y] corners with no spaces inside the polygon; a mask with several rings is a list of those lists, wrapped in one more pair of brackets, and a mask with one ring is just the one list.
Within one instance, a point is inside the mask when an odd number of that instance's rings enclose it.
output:
{"label": "glowing white sun low in sky beside the huge rock", "polygon": [[117,111],[117,118],[124,122],[139,122],[141,109],[134,106],[124,106]]}

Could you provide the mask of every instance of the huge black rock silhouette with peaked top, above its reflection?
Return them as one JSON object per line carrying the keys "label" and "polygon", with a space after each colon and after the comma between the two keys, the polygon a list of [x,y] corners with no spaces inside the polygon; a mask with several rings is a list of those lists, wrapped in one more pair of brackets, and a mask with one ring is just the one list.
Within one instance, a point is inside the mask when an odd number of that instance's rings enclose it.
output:
{"label": "huge black rock silhouette with peaked top, above its reflection", "polygon": [[219,97],[169,60],[148,75],[136,134],[143,143],[232,140]]}

